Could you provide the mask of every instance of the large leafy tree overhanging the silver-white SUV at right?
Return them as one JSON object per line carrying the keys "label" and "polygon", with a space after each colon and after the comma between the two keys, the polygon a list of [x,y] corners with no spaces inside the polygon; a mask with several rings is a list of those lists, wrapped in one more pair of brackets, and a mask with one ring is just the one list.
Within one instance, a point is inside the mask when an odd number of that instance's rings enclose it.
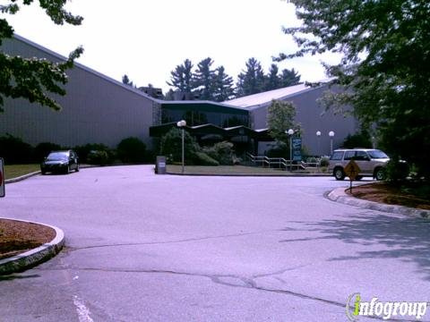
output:
{"label": "large leafy tree overhanging the silver-white SUV at right", "polygon": [[[417,166],[430,178],[430,5],[423,0],[313,1],[296,4],[302,26],[285,29],[299,50],[279,59],[337,52],[340,64],[326,66],[341,94],[325,106],[354,106],[373,124],[391,157]],[[305,35],[305,36],[304,36]],[[307,37],[306,35],[312,35]],[[414,147],[414,148],[411,148]]]}

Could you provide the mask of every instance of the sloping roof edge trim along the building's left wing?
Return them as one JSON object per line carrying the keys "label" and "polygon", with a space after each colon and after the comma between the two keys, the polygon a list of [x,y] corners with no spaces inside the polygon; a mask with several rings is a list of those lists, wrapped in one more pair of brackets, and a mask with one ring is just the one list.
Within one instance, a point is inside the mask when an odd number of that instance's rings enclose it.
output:
{"label": "sloping roof edge trim along the building's left wing", "polygon": [[[37,49],[39,49],[41,51],[44,51],[44,52],[46,52],[49,55],[53,55],[53,56],[55,56],[56,58],[58,58],[58,59],[60,59],[62,61],[67,61],[67,59],[68,59],[67,57],[64,57],[64,55],[60,55],[60,54],[56,53],[55,51],[53,51],[51,49],[48,49],[47,47],[43,47],[43,46],[41,46],[41,45],[39,45],[39,44],[37,44],[37,43],[35,43],[35,42],[27,39],[27,38],[23,38],[22,36],[20,36],[20,35],[18,35],[16,33],[13,33],[13,38],[18,39],[18,40],[22,41],[23,43],[26,43],[27,45],[35,47],[35,48],[37,48]],[[87,66],[85,66],[83,64],[80,64],[80,63],[77,63],[77,62],[73,62],[73,67],[79,67],[82,70],[84,70],[85,72],[90,72],[90,73],[92,73],[92,74],[94,74],[96,76],[99,76],[103,80],[107,80],[107,81],[115,84],[116,86],[120,86],[123,89],[127,89],[127,90],[132,91],[133,93],[135,93],[137,95],[140,95],[142,97],[148,98],[148,99],[150,99],[153,102],[156,102],[156,103],[159,103],[159,101],[160,102],[164,102],[163,100],[159,100],[157,98],[150,97],[148,94],[142,92],[142,90],[133,89],[131,86],[125,85],[121,81],[114,80],[113,78],[111,78],[111,77],[109,77],[107,75],[104,75],[101,72],[97,72],[97,71],[95,71],[95,70],[91,69],[90,67],[87,67]]]}

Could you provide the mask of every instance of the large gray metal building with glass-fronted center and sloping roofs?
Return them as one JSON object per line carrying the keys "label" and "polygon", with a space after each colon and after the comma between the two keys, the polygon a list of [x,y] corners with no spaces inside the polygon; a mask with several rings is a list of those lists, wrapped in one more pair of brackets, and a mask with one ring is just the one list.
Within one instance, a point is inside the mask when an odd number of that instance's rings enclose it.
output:
{"label": "large gray metal building with glass-fronted center and sloping roofs", "polygon": [[[65,57],[17,35],[4,40],[0,50],[9,55],[65,60]],[[303,143],[312,155],[330,153],[329,131],[335,132],[334,148],[339,147],[348,134],[357,131],[354,118],[323,113],[318,106],[316,100],[322,96],[326,86],[309,88],[300,84],[219,104],[208,101],[163,101],[82,64],[75,64],[67,73],[69,81],[64,86],[67,94],[56,97],[63,106],[60,112],[31,104],[24,99],[6,98],[4,113],[0,114],[0,136],[10,133],[33,146],[40,142],[69,147],[103,143],[111,148],[115,148],[119,141],[133,136],[143,140],[150,148],[150,127],[175,123],[190,114],[194,123],[196,115],[200,122],[192,124],[190,121],[190,125],[203,124],[203,120],[206,123],[218,120],[214,125],[224,128],[242,125],[259,133],[267,128],[267,109],[272,99],[292,101],[296,106],[297,122],[302,124],[304,130]],[[225,125],[223,120],[231,122]],[[319,139],[316,131],[322,132]],[[266,143],[260,142],[261,153],[267,148]]]}

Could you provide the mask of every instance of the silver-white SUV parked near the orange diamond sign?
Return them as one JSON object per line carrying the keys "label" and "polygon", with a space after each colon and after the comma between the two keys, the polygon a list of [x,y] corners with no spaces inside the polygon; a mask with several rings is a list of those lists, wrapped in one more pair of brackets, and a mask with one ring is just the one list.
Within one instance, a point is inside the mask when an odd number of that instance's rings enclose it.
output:
{"label": "silver-white SUV parked near the orange diamond sign", "polygon": [[374,148],[340,148],[333,151],[330,157],[329,172],[336,180],[345,179],[345,166],[350,160],[354,160],[360,168],[356,180],[364,176],[374,177],[376,180],[385,179],[385,166],[390,157],[383,151]]}

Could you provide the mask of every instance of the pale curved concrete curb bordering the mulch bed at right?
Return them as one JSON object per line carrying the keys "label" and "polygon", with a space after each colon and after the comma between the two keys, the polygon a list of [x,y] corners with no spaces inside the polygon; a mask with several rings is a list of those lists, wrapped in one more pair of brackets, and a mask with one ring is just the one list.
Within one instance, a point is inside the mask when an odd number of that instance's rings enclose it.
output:
{"label": "pale curved concrete curb bordering the mulch bed at right", "polygon": [[345,190],[347,189],[348,188],[337,188],[331,191],[327,195],[327,198],[331,199],[331,201],[336,201],[349,206],[356,206],[359,208],[378,210],[378,211],[383,211],[391,214],[414,216],[417,218],[426,218],[426,219],[430,218],[430,210],[409,208],[409,207],[397,206],[397,205],[386,205],[379,202],[358,199],[358,198],[349,196],[345,192]]}

